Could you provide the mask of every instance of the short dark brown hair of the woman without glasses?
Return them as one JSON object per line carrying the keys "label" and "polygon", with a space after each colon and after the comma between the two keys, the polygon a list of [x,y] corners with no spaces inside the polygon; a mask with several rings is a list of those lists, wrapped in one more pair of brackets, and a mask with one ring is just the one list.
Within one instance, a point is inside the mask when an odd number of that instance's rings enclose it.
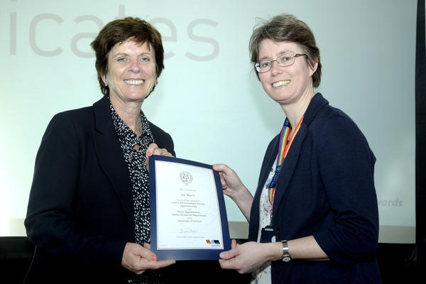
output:
{"label": "short dark brown hair of the woman without glasses", "polygon": [[[164,69],[164,49],[161,34],[150,23],[140,18],[126,17],[111,21],[99,31],[90,44],[96,55],[96,70],[102,94],[109,94],[109,87],[102,80],[108,72],[108,53],[117,43],[131,38],[136,43],[148,43],[155,55],[155,73],[160,77]],[[154,85],[155,87],[155,85]]]}

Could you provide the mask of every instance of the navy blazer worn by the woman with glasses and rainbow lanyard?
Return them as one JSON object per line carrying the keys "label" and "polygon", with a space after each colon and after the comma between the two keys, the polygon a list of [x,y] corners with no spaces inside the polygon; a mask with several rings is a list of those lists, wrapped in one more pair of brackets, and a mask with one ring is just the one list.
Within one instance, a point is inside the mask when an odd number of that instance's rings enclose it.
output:
{"label": "navy blazer worn by the woman with glasses and rainbow lanyard", "polygon": [[[259,200],[278,143],[279,135],[263,159],[250,241],[257,240]],[[381,283],[375,162],[354,121],[315,94],[278,177],[272,224],[277,241],[313,235],[331,261],[273,261],[272,283]]]}

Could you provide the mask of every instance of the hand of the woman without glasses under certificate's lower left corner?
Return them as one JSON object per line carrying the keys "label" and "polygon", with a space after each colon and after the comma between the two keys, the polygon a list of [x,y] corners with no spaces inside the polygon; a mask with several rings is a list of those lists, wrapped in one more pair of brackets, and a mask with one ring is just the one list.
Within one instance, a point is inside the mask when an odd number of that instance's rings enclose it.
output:
{"label": "hand of the woman without glasses under certificate's lower left corner", "polygon": [[124,247],[121,266],[136,274],[142,274],[147,269],[158,269],[176,263],[173,259],[157,261],[157,256],[151,251],[150,244],[127,243]]}

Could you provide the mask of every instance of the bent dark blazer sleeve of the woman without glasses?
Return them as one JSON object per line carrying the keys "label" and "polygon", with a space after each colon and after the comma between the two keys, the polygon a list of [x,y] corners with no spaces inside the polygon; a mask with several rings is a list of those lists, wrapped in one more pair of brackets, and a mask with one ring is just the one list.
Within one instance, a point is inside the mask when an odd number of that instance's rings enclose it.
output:
{"label": "bent dark blazer sleeve of the woman without glasses", "polygon": [[[48,125],[35,158],[25,226],[28,239],[49,256],[66,256],[81,266],[121,266],[123,241],[88,236],[73,213],[82,143],[72,119],[57,114]],[[80,134],[77,134],[80,133]]]}

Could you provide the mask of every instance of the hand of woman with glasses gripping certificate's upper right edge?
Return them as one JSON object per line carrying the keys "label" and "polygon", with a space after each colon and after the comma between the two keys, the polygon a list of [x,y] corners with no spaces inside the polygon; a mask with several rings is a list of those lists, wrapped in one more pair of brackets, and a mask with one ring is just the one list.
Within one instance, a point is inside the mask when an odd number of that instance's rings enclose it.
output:
{"label": "hand of woman with glasses gripping certificate's upper right edge", "polygon": [[247,221],[250,220],[250,209],[253,203],[253,195],[249,192],[247,187],[239,179],[238,175],[224,164],[214,164],[213,170],[219,172],[220,181],[222,182],[222,190],[224,195],[231,197],[232,200],[239,207],[241,212],[246,217]]}

